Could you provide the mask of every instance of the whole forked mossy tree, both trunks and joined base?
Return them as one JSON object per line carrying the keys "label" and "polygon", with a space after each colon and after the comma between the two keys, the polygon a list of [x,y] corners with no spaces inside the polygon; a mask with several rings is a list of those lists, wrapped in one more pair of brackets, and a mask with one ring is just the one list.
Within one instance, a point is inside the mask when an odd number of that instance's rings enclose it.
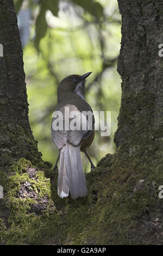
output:
{"label": "whole forked mossy tree, both trunks and joined base", "polygon": [[[76,200],[57,196],[57,174],[43,165],[37,152],[28,123],[16,14],[12,1],[8,1],[8,7],[2,2],[1,107],[5,120],[1,135],[2,139],[8,137],[2,146],[7,160],[2,162],[0,172],[4,186],[4,198],[0,199],[1,243],[162,244],[163,199],[158,197],[158,187],[163,185],[163,66],[158,55],[163,40],[161,1],[118,0],[122,15],[118,60],[122,101],[115,134],[116,153],[106,155],[86,175],[89,196]],[[11,132],[10,123],[15,132]],[[20,142],[17,134],[26,141]],[[47,178],[37,170],[38,163]]]}

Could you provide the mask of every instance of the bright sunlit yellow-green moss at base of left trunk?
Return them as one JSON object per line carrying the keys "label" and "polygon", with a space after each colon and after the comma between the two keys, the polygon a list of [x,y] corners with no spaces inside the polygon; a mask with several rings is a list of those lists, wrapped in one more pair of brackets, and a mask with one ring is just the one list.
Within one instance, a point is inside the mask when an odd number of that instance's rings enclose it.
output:
{"label": "bright sunlit yellow-green moss at base of left trunk", "polygon": [[[32,177],[27,172],[29,168],[35,170]],[[0,243],[39,245],[48,243],[52,235],[54,243],[59,243],[55,234],[59,233],[61,227],[61,215],[51,200],[50,180],[24,158],[12,164],[10,175],[4,172],[0,174],[4,186],[4,198],[0,200],[4,203],[4,209],[9,210],[8,220],[0,211]],[[27,188],[26,184],[30,186]]]}

